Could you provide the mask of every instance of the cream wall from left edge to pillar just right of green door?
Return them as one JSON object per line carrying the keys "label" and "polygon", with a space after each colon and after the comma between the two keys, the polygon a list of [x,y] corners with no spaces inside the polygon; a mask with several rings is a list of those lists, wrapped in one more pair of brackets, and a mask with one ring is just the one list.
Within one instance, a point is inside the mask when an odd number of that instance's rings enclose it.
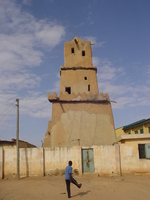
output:
{"label": "cream wall from left edge to pillar just right of green door", "polygon": [[[92,146],[91,148],[94,152],[95,173],[117,174],[115,146]],[[81,175],[81,152],[80,146],[20,149],[20,177],[63,175],[69,160],[73,161],[73,169],[77,169],[78,174]],[[0,155],[0,178],[17,177],[16,149],[1,148]]]}

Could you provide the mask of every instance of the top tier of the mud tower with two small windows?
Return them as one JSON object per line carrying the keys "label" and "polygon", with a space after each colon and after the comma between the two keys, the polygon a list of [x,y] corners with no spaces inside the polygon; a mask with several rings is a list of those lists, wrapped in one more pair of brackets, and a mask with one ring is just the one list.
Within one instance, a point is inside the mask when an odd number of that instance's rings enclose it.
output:
{"label": "top tier of the mud tower with two small windows", "polygon": [[64,67],[92,67],[91,42],[77,36],[64,46]]}

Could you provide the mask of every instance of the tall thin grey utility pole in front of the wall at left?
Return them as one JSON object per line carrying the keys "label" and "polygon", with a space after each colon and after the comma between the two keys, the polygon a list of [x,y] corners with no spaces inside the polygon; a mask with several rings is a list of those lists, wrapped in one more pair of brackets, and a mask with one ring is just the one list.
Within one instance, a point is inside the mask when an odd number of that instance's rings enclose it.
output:
{"label": "tall thin grey utility pole in front of the wall at left", "polygon": [[17,128],[16,128],[16,147],[17,147],[17,179],[19,180],[19,99],[17,101]]}

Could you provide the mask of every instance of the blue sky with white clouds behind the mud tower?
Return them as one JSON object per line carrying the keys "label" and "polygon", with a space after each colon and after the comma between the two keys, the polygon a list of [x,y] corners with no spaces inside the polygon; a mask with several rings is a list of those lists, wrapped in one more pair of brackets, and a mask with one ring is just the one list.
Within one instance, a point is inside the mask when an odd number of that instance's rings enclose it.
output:
{"label": "blue sky with white clouds behind the mud tower", "polygon": [[150,117],[149,0],[0,0],[0,139],[41,146],[51,119],[47,92],[59,94],[64,42],[88,39],[99,92],[115,127]]}

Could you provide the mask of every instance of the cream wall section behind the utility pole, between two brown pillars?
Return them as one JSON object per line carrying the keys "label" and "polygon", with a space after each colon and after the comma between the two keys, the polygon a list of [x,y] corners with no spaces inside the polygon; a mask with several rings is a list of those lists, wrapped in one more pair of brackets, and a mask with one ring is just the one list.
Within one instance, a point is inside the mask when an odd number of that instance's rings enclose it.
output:
{"label": "cream wall section behind the utility pole, between two brown pillars", "polygon": [[[1,176],[16,176],[17,174],[17,150],[3,150],[3,168],[1,168]],[[0,151],[0,152],[1,152]],[[20,176],[43,176],[44,175],[44,160],[43,148],[21,148],[20,156]]]}

